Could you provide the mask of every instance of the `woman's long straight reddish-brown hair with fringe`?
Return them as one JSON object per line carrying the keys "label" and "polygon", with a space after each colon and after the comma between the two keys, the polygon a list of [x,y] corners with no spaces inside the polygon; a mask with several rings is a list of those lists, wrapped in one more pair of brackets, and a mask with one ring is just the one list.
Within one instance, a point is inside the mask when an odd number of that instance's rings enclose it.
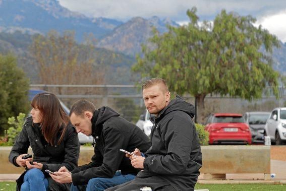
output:
{"label": "woman's long straight reddish-brown hair with fringe", "polygon": [[[49,92],[38,93],[33,98],[31,106],[40,110],[41,131],[45,140],[52,146],[59,145],[69,123],[69,116],[65,113],[59,99]],[[56,143],[59,133],[61,137]]]}

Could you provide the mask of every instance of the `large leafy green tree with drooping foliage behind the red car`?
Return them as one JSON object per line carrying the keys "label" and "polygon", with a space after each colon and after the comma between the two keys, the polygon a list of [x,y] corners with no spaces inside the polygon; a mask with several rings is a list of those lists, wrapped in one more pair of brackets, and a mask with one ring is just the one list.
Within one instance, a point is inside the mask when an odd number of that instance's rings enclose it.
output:
{"label": "large leafy green tree with drooping foliage behind the red car", "polygon": [[[211,24],[198,23],[196,8],[187,11],[188,26],[171,27],[159,35],[154,31],[153,49],[142,46],[133,71],[142,77],[164,78],[170,90],[189,93],[198,103],[198,117],[203,116],[208,94],[260,98],[263,89],[272,86],[278,95],[278,73],[272,67],[272,47],[278,40],[259,26],[255,19],[222,10]],[[265,51],[261,51],[264,47]]]}

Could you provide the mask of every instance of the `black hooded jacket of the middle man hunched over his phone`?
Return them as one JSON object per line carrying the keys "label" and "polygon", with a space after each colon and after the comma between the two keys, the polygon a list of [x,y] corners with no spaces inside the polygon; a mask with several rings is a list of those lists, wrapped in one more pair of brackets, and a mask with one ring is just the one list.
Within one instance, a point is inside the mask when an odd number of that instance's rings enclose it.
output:
{"label": "black hooded jacket of the middle man hunched over his phone", "polygon": [[145,152],[150,148],[150,140],[136,125],[119,115],[109,107],[101,107],[93,113],[94,156],[89,164],[72,171],[74,185],[87,184],[89,179],[95,177],[111,178],[117,170],[121,170],[122,174],[135,175],[139,171],[119,150],[133,152],[138,148]]}

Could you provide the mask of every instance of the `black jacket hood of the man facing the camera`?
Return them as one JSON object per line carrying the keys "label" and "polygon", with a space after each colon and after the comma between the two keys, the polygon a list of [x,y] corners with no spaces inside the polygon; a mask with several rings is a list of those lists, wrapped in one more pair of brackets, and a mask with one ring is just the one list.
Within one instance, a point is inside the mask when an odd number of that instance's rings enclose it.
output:
{"label": "black jacket hood of the man facing the camera", "polygon": [[151,121],[154,121],[155,118],[159,118],[173,111],[183,111],[190,115],[191,118],[195,116],[195,107],[191,103],[186,102],[179,95],[175,99],[171,100],[170,103],[158,114],[157,117],[151,117]]}

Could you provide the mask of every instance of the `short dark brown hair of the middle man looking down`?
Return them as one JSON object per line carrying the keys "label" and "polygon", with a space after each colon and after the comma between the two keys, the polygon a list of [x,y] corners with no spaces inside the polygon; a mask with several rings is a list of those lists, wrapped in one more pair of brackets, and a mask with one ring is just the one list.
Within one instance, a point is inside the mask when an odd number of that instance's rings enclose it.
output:
{"label": "short dark brown hair of the middle man looking down", "polygon": [[94,112],[95,106],[93,103],[87,100],[78,100],[75,102],[70,110],[70,116],[72,113],[75,113],[76,115],[83,116],[85,111]]}

